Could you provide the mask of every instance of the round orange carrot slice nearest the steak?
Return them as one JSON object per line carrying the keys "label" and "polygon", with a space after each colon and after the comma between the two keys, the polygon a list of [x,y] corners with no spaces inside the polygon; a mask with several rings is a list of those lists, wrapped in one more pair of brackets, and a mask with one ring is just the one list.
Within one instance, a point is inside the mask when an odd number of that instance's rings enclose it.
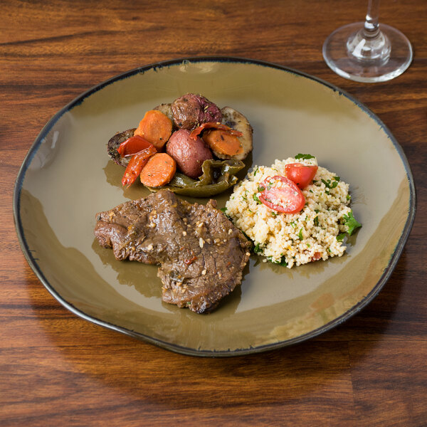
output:
{"label": "round orange carrot slice nearest the steak", "polygon": [[146,186],[159,187],[168,184],[175,172],[175,160],[167,153],[157,153],[149,158],[142,169],[140,179]]}

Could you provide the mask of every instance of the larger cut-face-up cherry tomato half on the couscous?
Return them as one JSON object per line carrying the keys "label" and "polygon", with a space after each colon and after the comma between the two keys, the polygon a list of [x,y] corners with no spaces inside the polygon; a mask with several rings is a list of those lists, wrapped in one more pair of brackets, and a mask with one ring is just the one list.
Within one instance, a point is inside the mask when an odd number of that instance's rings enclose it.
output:
{"label": "larger cut-face-up cherry tomato half on the couscous", "polygon": [[262,184],[260,201],[270,209],[285,214],[297,214],[305,205],[305,198],[296,184],[286,176],[269,176]]}

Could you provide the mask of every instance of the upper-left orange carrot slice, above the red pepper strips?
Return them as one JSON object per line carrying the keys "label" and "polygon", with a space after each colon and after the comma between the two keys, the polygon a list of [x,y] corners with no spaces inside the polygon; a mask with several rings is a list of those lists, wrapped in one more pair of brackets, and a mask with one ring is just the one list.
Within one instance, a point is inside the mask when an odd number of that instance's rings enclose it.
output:
{"label": "upper-left orange carrot slice, above the red pepper strips", "polygon": [[172,120],[159,110],[149,110],[139,122],[134,135],[141,135],[154,147],[161,149],[172,135]]}

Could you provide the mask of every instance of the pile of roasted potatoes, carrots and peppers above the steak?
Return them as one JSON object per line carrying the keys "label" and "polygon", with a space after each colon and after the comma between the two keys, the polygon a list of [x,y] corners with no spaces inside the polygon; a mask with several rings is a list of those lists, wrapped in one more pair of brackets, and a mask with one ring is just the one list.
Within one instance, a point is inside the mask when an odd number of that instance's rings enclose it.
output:
{"label": "pile of roasted potatoes, carrots and peppers above the steak", "polygon": [[253,130],[231,107],[220,109],[187,93],[145,113],[138,127],[118,132],[107,144],[112,160],[126,167],[124,186],[139,180],[152,191],[208,197],[236,184],[252,151]]}

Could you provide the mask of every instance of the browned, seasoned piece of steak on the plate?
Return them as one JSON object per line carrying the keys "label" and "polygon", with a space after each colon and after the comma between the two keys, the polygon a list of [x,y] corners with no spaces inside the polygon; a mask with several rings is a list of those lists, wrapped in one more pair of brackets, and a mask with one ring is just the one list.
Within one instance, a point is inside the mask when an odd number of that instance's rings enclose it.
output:
{"label": "browned, seasoned piece of steak on the plate", "polygon": [[159,264],[162,300],[203,313],[241,283],[251,242],[218,209],[167,189],[96,215],[95,236],[117,260]]}

